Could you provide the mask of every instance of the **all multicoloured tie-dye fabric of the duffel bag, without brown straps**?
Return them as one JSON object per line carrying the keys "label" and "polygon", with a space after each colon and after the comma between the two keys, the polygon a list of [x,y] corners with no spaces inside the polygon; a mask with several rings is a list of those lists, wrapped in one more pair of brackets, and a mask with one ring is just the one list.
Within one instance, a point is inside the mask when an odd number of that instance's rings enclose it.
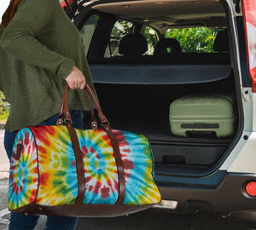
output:
{"label": "all multicoloured tie-dye fabric of the duffel bag, without brown straps", "polygon": [[[83,204],[115,204],[119,196],[119,181],[108,135],[103,129],[75,130],[84,161]],[[23,147],[27,142],[25,132],[30,136],[27,145],[30,149],[27,150]],[[21,193],[24,189],[13,189],[9,193],[10,210],[30,203],[50,206],[74,204],[78,196],[78,178],[76,158],[67,127],[29,127],[21,129],[18,135],[23,143],[21,158],[16,162],[13,157],[11,169],[15,170],[15,165],[26,164],[29,168],[26,176],[33,179],[27,180],[29,186],[26,187],[26,192]],[[118,130],[113,130],[113,135],[119,142],[125,170],[123,204],[158,204],[160,193],[154,184],[152,152],[147,138]],[[24,179],[16,170],[12,176],[12,183],[20,183],[21,178]],[[31,183],[32,181],[35,183]],[[32,189],[33,193],[28,189]],[[25,193],[29,195],[25,196]]]}

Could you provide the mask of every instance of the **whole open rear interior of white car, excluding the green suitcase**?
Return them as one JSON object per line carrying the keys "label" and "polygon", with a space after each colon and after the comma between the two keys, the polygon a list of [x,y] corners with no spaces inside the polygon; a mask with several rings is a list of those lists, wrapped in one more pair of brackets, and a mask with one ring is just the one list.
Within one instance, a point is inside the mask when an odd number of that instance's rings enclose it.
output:
{"label": "whole open rear interior of white car, excluding the green suitcase", "polygon": [[[112,129],[146,135],[157,173],[204,175],[218,165],[229,154],[241,122],[224,5],[213,0],[110,2],[93,6],[86,20],[80,26],[84,49]],[[178,37],[177,32],[194,32],[195,37]],[[202,41],[206,32],[212,32],[207,38],[211,48],[207,39]],[[218,129],[218,122],[181,124],[190,131],[173,133],[170,105],[189,95],[229,95],[231,133],[218,136],[211,130]],[[88,125],[89,113],[84,121]]]}

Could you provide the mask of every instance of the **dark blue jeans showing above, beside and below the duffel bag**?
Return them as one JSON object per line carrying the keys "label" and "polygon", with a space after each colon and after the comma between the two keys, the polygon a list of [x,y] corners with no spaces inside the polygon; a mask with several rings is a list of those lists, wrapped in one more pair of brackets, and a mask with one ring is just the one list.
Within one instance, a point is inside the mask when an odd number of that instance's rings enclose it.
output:
{"label": "dark blue jeans showing above, beside and below the duffel bag", "polygon": [[[83,112],[70,111],[73,120],[73,127],[83,129]],[[55,125],[58,114],[45,120],[39,125]],[[9,159],[12,155],[12,148],[15,142],[15,136],[17,131],[9,132],[5,130],[4,134],[4,147]],[[39,216],[22,215],[17,213],[11,213],[11,219],[9,224],[9,230],[32,230],[37,225]],[[76,228],[78,218],[67,216],[48,216],[46,222],[46,230],[73,230]]]}

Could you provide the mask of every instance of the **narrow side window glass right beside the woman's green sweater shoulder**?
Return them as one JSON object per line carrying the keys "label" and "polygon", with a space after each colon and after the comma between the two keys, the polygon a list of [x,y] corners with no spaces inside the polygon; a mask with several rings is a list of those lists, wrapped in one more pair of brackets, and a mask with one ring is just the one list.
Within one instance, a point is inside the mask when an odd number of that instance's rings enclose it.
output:
{"label": "narrow side window glass right beside the woman's green sweater shoulder", "polygon": [[88,49],[90,47],[90,41],[95,31],[98,20],[98,15],[91,15],[80,31],[85,55],[87,55]]}

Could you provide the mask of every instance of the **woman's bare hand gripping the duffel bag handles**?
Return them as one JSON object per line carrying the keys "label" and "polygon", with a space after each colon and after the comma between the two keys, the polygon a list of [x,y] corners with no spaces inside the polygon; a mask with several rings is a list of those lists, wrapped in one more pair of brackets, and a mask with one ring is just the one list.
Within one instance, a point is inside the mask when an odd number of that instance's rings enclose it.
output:
{"label": "woman's bare hand gripping the duffel bag handles", "polygon": [[76,66],[73,66],[72,71],[65,80],[70,89],[84,89],[85,87],[84,74]]}

